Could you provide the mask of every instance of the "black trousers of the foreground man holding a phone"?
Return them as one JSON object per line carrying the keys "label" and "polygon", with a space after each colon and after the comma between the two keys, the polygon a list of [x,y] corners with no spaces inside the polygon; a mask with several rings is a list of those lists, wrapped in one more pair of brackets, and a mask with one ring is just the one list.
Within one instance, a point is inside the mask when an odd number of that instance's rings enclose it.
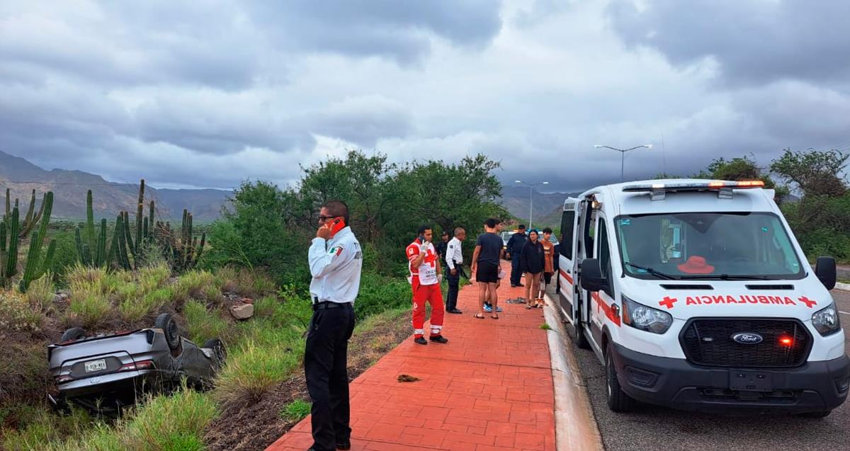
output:
{"label": "black trousers of the foreground man holding a phone", "polygon": [[[304,349],[307,391],[313,401],[313,448],[335,451],[351,441],[348,404],[348,339],[354,332],[350,303],[313,312]],[[314,307],[316,308],[316,307]]]}

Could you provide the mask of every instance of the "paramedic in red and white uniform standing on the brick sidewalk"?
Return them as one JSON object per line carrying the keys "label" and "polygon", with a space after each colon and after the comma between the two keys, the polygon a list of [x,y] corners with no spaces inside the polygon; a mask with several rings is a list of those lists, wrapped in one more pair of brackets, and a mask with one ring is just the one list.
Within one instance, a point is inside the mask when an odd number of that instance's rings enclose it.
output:
{"label": "paramedic in red and white uniform standing on the brick sidewalk", "polygon": [[416,344],[427,345],[425,340],[425,302],[431,303],[431,335],[430,341],[448,343],[441,335],[443,330],[443,292],[439,282],[443,278],[443,268],[440,265],[437,251],[434,250],[431,238],[433,231],[429,226],[419,228],[416,240],[407,246],[407,260],[411,269],[411,288],[413,289],[413,341]]}

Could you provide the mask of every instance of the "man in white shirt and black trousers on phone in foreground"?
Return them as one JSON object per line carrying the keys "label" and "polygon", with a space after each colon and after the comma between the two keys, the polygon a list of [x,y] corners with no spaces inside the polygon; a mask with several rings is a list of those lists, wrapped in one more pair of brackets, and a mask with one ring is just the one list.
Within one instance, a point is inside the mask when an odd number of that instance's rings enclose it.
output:
{"label": "man in white shirt and black trousers on phone in foreground", "polygon": [[348,206],[331,200],[319,211],[309,249],[313,319],[304,349],[313,446],[308,451],[351,448],[348,339],[354,332],[354,298],[360,290],[363,252],[348,227]]}

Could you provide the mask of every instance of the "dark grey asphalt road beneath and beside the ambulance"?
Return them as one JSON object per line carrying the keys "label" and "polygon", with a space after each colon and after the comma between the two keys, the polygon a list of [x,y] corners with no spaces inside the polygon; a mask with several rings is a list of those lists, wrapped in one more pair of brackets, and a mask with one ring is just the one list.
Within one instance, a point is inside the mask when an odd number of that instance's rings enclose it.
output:
{"label": "dark grey asphalt road beneath and beside the ambulance", "polygon": [[[850,330],[850,292],[834,290],[832,296],[843,312],[842,324]],[[820,420],[791,415],[718,416],[645,404],[635,413],[615,414],[605,404],[602,365],[593,352],[578,349],[572,343],[570,347],[575,351],[593,414],[609,451],[850,449],[850,403]]]}

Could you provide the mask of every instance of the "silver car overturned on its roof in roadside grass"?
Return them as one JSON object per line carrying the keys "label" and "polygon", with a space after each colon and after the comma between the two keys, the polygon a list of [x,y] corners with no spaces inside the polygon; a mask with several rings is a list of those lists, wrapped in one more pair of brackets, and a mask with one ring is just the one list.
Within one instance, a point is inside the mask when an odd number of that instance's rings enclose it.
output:
{"label": "silver car overturned on its roof in roadside grass", "polygon": [[212,386],[224,365],[224,342],[211,338],[198,347],[180,336],[172,315],[162,313],[154,327],[87,336],[75,327],[48,346],[49,373],[59,395],[58,409],[75,403],[99,414],[118,414],[144,392],[167,392],[186,385]]}

